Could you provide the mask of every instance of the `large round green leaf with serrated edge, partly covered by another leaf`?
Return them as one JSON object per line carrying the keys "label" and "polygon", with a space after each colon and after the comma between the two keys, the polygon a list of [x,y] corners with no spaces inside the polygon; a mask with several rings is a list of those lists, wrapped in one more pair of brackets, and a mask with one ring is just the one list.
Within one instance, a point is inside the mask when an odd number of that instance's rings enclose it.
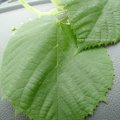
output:
{"label": "large round green leaf with serrated edge, partly covered by another leaf", "polygon": [[34,120],[83,120],[105,100],[113,82],[106,49],[74,55],[70,26],[54,17],[24,24],[11,38],[2,63],[4,98]]}

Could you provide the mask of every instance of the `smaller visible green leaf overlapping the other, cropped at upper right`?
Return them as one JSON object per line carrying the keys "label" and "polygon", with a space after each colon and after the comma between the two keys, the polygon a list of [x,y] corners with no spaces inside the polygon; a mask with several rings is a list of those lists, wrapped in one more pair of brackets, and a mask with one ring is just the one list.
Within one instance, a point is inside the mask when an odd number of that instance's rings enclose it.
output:
{"label": "smaller visible green leaf overlapping the other, cropped at upper right", "polygon": [[120,0],[52,0],[67,12],[79,51],[120,41]]}

